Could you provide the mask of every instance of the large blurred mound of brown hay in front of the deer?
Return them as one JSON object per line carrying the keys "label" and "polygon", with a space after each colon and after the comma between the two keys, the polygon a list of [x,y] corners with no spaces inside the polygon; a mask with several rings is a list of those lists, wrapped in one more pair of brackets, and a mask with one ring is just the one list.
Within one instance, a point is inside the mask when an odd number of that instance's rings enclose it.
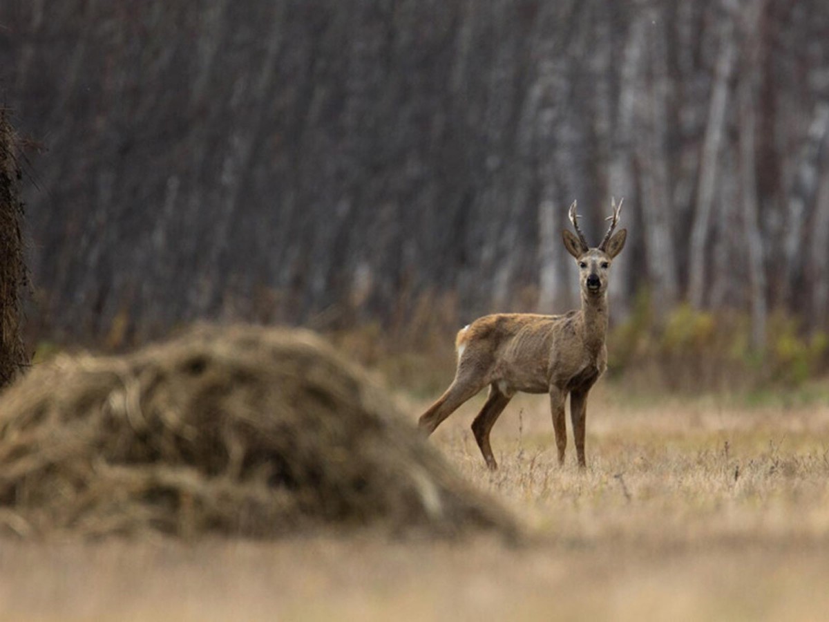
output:
{"label": "large blurred mound of brown hay in front of the deer", "polygon": [[0,397],[0,528],[323,526],[516,534],[313,333],[202,326],[125,357],[57,357]]}

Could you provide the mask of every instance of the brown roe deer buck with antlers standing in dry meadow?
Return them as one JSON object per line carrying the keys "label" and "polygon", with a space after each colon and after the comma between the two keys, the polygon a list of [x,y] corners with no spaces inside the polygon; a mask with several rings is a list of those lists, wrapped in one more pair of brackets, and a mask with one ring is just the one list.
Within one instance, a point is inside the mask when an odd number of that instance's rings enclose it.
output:
{"label": "brown roe deer buck with antlers standing in dry meadow", "polygon": [[550,393],[559,464],[564,464],[567,430],[565,399],[570,393],[570,419],[578,454],[584,467],[584,420],[587,394],[607,367],[604,345],[608,330],[608,275],[610,263],[628,236],[623,229],[613,234],[622,202],[611,202],[610,227],[597,248],[589,248],[579,229],[576,203],[570,206],[570,222],[578,236],[562,231],[565,248],[579,265],[581,309],[564,315],[497,313],[478,318],[462,328],[455,339],[458,368],[449,388],[420,417],[427,435],[484,386],[489,396],[475,417],[472,430],[487,467],[497,469],[489,445],[489,433],[516,391]]}

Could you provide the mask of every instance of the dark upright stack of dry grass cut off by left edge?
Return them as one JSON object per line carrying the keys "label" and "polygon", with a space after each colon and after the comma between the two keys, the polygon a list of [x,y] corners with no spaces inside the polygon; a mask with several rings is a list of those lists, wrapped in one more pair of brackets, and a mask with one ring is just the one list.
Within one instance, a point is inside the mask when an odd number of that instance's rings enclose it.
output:
{"label": "dark upright stack of dry grass cut off by left edge", "polygon": [[0,108],[0,386],[11,382],[29,358],[22,339],[22,294],[28,272],[23,258],[23,203],[16,138]]}

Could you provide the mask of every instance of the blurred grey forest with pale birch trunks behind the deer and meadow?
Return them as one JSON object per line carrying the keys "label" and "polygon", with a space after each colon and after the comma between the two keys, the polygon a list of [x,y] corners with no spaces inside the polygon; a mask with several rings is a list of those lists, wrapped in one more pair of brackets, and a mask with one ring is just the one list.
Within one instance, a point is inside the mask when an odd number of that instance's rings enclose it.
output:
{"label": "blurred grey forest with pale birch trunks behind the deer and meadow", "polygon": [[4,0],[0,80],[56,339],[563,311],[612,195],[614,322],[827,329],[825,0]]}

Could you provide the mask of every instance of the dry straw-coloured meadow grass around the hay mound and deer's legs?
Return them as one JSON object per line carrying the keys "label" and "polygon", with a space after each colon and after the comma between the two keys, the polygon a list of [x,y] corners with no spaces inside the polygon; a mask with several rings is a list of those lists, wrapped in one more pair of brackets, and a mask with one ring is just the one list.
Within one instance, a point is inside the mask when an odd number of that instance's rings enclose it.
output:
{"label": "dry straw-coloured meadow grass around the hay mound and deer's legs", "polygon": [[[544,396],[433,436],[531,536],[389,542],[0,542],[3,620],[826,620],[829,400],[627,396],[602,382],[589,468],[560,468]],[[426,404],[410,401],[414,420]],[[568,422],[569,423],[569,422]]]}

